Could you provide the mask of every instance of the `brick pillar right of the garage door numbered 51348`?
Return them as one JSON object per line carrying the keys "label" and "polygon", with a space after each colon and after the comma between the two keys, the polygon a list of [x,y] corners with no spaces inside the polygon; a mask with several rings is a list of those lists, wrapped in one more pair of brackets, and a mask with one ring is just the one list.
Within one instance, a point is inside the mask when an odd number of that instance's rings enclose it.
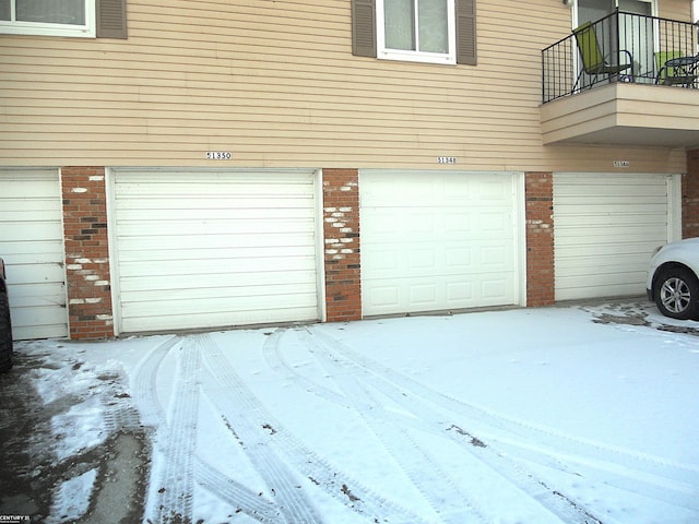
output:
{"label": "brick pillar right of the garage door numbered 51348", "polygon": [[554,270],[554,177],[524,176],[526,213],[526,305],[550,306],[556,300]]}

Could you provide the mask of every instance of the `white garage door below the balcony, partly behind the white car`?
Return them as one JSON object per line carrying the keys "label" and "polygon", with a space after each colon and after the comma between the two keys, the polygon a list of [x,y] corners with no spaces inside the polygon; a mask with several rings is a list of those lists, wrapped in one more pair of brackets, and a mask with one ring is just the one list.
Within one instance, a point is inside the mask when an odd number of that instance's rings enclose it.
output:
{"label": "white garage door below the balcony, partly behind the white car", "polygon": [[653,250],[672,236],[673,177],[556,174],[556,300],[645,293]]}

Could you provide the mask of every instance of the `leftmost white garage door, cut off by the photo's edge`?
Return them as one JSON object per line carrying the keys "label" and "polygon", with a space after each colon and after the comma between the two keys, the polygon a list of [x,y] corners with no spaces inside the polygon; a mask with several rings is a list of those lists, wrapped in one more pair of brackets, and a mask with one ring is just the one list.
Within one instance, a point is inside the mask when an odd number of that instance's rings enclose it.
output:
{"label": "leftmost white garage door, cut off by the photo's edge", "polygon": [[0,257],[14,338],[68,336],[58,170],[0,170]]}

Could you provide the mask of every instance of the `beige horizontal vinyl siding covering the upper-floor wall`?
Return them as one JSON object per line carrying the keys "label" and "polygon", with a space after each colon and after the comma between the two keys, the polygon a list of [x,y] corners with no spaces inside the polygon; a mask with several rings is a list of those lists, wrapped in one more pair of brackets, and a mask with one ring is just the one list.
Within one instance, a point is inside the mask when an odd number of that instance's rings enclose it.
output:
{"label": "beige horizontal vinyl siding covering the upper-floor wall", "polygon": [[542,145],[541,49],[571,24],[559,1],[478,0],[476,67],[354,57],[350,1],[127,9],[126,40],[0,35],[1,164],[211,166],[206,151],[230,151],[226,167],[685,170],[682,150]]}

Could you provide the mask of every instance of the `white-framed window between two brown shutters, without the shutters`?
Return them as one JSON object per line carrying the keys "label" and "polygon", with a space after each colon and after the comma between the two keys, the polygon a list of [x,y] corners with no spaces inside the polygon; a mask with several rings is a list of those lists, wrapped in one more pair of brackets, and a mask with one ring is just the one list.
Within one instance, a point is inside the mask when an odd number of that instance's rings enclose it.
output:
{"label": "white-framed window between two brown shutters, without the shutters", "polygon": [[377,0],[377,58],[457,63],[454,0]]}

